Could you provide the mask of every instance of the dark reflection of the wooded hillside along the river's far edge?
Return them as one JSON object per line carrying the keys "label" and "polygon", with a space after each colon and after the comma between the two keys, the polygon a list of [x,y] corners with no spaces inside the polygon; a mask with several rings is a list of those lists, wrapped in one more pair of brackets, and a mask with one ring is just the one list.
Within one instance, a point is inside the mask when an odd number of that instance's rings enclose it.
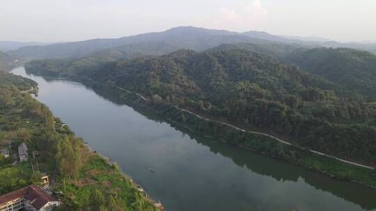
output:
{"label": "dark reflection of the wooded hillside along the river's far edge", "polygon": [[191,139],[196,140],[198,144],[207,146],[213,153],[219,153],[226,158],[230,158],[238,166],[247,167],[256,174],[269,176],[279,181],[297,182],[298,178],[303,178],[306,183],[312,185],[315,189],[330,192],[346,201],[351,201],[352,203],[360,205],[361,208],[366,210],[376,209],[376,189],[359,185],[357,183],[335,180],[318,172],[311,171],[310,169],[299,167],[295,164],[290,164],[282,160],[276,160],[265,155],[260,155],[259,153],[240,149],[237,146],[214,142],[210,139],[203,138],[196,133],[191,133],[189,130],[182,128],[181,126],[166,121],[166,119],[154,112],[139,108],[139,106],[135,106],[130,101],[120,99],[113,92],[101,90],[97,87],[91,87],[91,89],[102,98],[107,99],[116,105],[131,106],[136,112],[139,112],[148,119],[169,123],[171,127],[175,128],[175,130],[179,130],[180,132],[189,135]]}

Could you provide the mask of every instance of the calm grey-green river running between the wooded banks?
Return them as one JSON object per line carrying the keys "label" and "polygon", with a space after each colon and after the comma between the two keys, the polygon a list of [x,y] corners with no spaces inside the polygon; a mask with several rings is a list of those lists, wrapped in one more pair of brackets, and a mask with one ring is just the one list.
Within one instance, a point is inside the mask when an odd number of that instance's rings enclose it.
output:
{"label": "calm grey-green river running between the wooded banks", "polygon": [[38,82],[39,101],[168,211],[376,210],[376,189],[205,139],[80,83],[12,72]]}

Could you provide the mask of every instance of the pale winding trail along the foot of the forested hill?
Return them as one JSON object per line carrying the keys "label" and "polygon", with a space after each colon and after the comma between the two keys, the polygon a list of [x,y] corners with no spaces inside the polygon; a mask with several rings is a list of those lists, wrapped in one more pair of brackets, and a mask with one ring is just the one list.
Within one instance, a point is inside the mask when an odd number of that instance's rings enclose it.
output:
{"label": "pale winding trail along the foot of the forested hill", "polygon": [[[90,81],[93,81],[91,78],[89,78],[89,80],[90,80]],[[94,82],[94,83],[98,83],[97,81],[93,81],[93,82]],[[98,84],[99,84],[99,83],[98,83]],[[125,90],[124,88],[119,87],[119,86],[116,86],[116,87],[117,87],[119,90],[123,90],[123,91],[128,92],[128,93],[134,93],[134,94],[140,96],[141,99],[143,99],[144,101],[148,101],[148,99],[147,99],[145,96],[142,96],[141,94],[139,94],[139,93],[137,93],[137,92],[133,92],[133,91],[130,91],[130,90]],[[325,157],[327,157],[327,158],[333,158],[333,159],[335,159],[335,160],[339,160],[339,161],[341,161],[341,162],[345,162],[345,163],[348,163],[348,164],[353,164],[353,165],[358,166],[358,167],[364,167],[364,168],[367,168],[367,169],[375,169],[374,167],[370,167],[370,166],[367,166],[367,165],[364,165],[364,164],[359,164],[359,163],[357,163],[357,162],[351,162],[351,161],[349,161],[349,160],[343,160],[343,159],[341,159],[341,158],[337,158],[337,157],[334,157],[334,156],[332,156],[332,155],[328,155],[328,154],[325,154],[325,153],[321,153],[321,152],[319,152],[319,151],[308,150],[308,149],[306,149],[306,148],[304,148],[304,147],[302,147],[302,146],[297,146],[297,145],[295,145],[295,144],[291,144],[290,142],[283,141],[283,140],[279,139],[278,137],[275,137],[275,136],[270,135],[270,134],[267,134],[267,133],[259,133],[259,132],[256,132],[256,131],[244,130],[244,129],[242,129],[242,128],[238,128],[237,126],[233,126],[232,124],[228,124],[228,123],[226,123],[226,122],[224,122],[224,121],[217,121],[217,120],[214,120],[214,119],[207,119],[206,117],[202,117],[202,116],[200,116],[200,115],[198,115],[198,114],[196,114],[196,113],[194,113],[194,112],[191,112],[191,111],[186,110],[186,109],[184,109],[184,108],[180,108],[178,105],[175,105],[175,108],[178,109],[178,110],[181,110],[181,111],[187,112],[187,113],[189,113],[189,114],[191,114],[191,115],[194,115],[194,116],[196,116],[196,117],[198,117],[198,118],[200,118],[200,119],[204,119],[205,121],[213,121],[213,122],[217,122],[217,123],[219,123],[219,124],[223,124],[223,125],[229,126],[229,127],[231,127],[231,128],[234,128],[235,130],[240,130],[240,131],[242,131],[242,132],[244,132],[244,133],[252,133],[252,134],[256,134],[256,135],[263,135],[263,136],[266,136],[266,137],[272,138],[272,139],[274,139],[274,140],[277,140],[277,141],[279,141],[279,142],[281,142],[281,143],[283,143],[283,144],[287,144],[287,145],[290,145],[290,146],[295,146],[295,147],[297,147],[297,148],[299,148],[299,149],[307,150],[307,151],[310,151],[311,153],[315,153],[315,154],[317,154],[317,155],[322,155],[322,156],[325,156]]]}

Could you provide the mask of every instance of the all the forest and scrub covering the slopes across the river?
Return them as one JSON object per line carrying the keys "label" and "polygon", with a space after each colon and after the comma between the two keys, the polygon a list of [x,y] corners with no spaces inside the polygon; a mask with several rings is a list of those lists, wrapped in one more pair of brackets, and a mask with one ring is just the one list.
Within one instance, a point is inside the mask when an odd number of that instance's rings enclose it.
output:
{"label": "all the forest and scrub covering the slopes across the river", "polygon": [[[102,88],[116,90],[119,96],[132,97],[119,87],[132,90],[151,99],[145,102],[133,94],[138,98],[137,105],[153,108],[202,135],[375,187],[373,169],[315,155],[266,136],[242,133],[175,108],[178,105],[306,149],[376,166],[376,103],[374,93],[368,91],[374,82],[368,76],[375,75],[375,56],[352,49],[313,49],[348,62],[345,77],[349,83],[341,83],[337,77],[324,74],[327,71],[313,70],[327,65],[332,72],[341,72],[344,65],[328,64],[331,60],[310,53],[310,49],[248,45],[224,45],[201,53],[179,50],[155,58],[89,66],[80,64],[80,60],[75,60],[74,67],[71,60],[36,60],[26,65],[26,71],[70,77],[95,86],[99,83]],[[304,64],[309,60],[322,66],[308,68]]]}

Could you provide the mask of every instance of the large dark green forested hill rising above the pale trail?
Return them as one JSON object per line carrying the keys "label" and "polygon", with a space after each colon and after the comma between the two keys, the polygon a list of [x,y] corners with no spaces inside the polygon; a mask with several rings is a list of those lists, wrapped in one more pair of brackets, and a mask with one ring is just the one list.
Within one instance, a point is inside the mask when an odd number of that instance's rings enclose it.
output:
{"label": "large dark green forested hill rising above the pale trail", "polygon": [[[44,60],[26,68],[42,74],[55,68],[60,74],[64,69],[58,67]],[[180,50],[80,70],[68,76],[120,86],[155,101],[376,165],[376,103],[358,99],[342,85],[272,56],[248,49]]]}

